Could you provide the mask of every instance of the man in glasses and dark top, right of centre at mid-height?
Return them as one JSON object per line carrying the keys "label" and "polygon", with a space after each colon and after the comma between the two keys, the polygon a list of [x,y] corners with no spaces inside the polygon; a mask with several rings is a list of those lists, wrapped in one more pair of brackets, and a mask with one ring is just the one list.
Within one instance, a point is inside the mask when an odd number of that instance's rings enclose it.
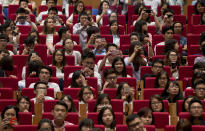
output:
{"label": "man in glasses and dark top, right of centre at mid-height", "polygon": [[160,59],[156,59],[152,62],[152,74],[145,74],[142,80],[145,81],[146,77],[156,77],[159,72],[163,70],[164,62]]}

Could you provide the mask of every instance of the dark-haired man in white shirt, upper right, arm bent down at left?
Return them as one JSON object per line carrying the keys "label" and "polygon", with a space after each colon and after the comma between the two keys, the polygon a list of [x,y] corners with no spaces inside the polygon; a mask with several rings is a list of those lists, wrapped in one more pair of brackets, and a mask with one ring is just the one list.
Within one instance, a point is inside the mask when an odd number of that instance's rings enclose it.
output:
{"label": "dark-haired man in white shirt, upper right, arm bent down at left", "polygon": [[172,27],[166,26],[166,27],[164,27],[162,29],[162,33],[163,33],[164,41],[155,45],[155,47],[154,47],[155,55],[156,55],[156,47],[157,47],[157,45],[165,45],[165,41],[170,40],[170,39],[173,38],[174,31],[173,31]]}

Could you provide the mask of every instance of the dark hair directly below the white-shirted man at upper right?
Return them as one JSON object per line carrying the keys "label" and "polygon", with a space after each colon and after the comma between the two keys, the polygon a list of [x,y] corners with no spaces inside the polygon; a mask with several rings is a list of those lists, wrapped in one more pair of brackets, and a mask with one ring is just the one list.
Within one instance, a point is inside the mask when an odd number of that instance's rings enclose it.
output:
{"label": "dark hair directly below the white-shirted man at upper right", "polygon": [[164,52],[163,54],[168,53],[170,50],[175,50],[175,44],[178,41],[176,39],[169,39],[167,41],[165,41],[165,46],[164,46]]}

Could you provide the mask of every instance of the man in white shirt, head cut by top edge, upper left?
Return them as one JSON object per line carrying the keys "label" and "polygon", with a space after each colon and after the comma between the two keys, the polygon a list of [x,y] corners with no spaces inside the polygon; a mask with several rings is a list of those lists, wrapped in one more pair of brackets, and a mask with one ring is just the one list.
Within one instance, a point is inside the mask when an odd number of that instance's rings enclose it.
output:
{"label": "man in white shirt, head cut by top edge, upper left", "polygon": [[[49,10],[51,7],[55,7],[57,5],[57,0],[46,0],[46,5],[48,6],[48,10]],[[39,13],[38,17],[36,18],[36,21],[38,23],[40,23],[42,21],[43,15],[48,14],[48,10]],[[58,15],[61,15],[61,14],[62,14],[62,12],[58,11]]]}

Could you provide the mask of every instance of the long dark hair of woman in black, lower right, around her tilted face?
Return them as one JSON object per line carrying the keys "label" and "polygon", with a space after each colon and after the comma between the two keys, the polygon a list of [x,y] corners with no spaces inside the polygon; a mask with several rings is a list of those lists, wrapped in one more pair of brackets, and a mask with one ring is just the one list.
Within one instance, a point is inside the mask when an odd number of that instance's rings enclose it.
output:
{"label": "long dark hair of woman in black, lower right, around her tilted face", "polygon": [[179,86],[179,83],[177,81],[169,81],[169,85],[173,83],[175,86],[177,86],[179,88],[179,92],[178,94],[174,97],[173,100],[170,99],[169,97],[169,93],[167,92],[169,86],[165,87],[164,91],[162,92],[162,97],[164,99],[167,99],[170,103],[175,103],[177,100],[182,100],[183,99],[183,94],[180,90],[180,86]]}

